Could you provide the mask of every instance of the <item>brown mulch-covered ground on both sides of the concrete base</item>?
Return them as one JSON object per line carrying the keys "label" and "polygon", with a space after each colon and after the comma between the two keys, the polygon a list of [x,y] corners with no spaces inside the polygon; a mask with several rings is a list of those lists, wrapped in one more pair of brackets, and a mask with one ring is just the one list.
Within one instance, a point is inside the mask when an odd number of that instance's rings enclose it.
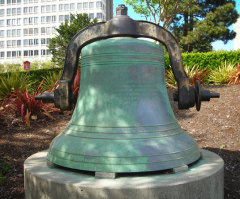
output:
{"label": "brown mulch-covered ground on both sides of the concrete base", "polygon": [[[224,198],[240,198],[240,85],[208,87],[219,92],[220,99],[202,103],[201,111],[173,110],[186,132],[195,138],[200,148],[217,153],[225,162]],[[45,150],[51,140],[68,124],[71,112],[53,113],[56,120],[42,117],[26,127],[13,115],[0,120],[0,161],[13,168],[4,185],[0,185],[0,198],[24,198],[23,162],[30,155]]]}

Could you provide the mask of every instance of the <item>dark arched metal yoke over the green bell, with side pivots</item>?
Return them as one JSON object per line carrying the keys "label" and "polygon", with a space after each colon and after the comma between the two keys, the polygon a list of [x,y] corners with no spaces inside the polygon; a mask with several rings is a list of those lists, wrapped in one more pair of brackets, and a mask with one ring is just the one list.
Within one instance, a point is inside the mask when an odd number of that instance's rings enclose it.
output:
{"label": "dark arched metal yoke over the green bell, with side pivots", "polygon": [[[168,30],[151,22],[131,19],[127,16],[127,7],[119,5],[117,16],[112,20],[89,26],[72,38],[67,48],[59,87],[55,89],[54,93],[44,93],[36,96],[36,99],[43,100],[43,102],[54,102],[55,106],[62,110],[71,109],[73,101],[71,86],[76,75],[82,48],[94,41],[112,37],[146,37],[160,42],[167,48],[174,77],[178,84],[178,92],[175,93],[174,100],[178,101],[179,109],[188,109],[196,104],[197,110],[200,110],[201,101],[209,101],[210,98],[219,97],[218,93],[201,90],[199,82],[195,88],[190,85],[184,70],[180,46]],[[204,97],[201,97],[203,93]]]}

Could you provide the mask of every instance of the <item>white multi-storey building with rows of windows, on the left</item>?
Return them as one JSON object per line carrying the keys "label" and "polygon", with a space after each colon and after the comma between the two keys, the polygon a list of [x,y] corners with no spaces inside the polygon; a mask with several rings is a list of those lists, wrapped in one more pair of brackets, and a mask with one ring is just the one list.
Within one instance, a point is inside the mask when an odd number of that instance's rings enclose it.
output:
{"label": "white multi-storey building with rows of windows, on the left", "polygon": [[0,0],[0,63],[50,59],[49,39],[70,13],[113,17],[112,0]]}

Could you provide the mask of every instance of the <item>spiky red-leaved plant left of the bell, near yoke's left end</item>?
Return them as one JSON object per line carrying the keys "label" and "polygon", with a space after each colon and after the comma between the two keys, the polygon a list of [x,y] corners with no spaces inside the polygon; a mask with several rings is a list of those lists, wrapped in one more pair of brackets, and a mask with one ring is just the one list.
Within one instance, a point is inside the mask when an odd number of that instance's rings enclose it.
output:
{"label": "spiky red-leaved plant left of the bell, near yoke's left end", "polygon": [[31,115],[38,115],[41,112],[43,112],[49,118],[55,119],[46,110],[46,105],[41,100],[35,99],[35,96],[40,94],[39,88],[42,83],[43,81],[38,86],[37,91],[33,92],[32,94],[30,94],[26,88],[25,92],[16,90],[15,93],[13,93],[10,97],[16,115],[21,116],[22,121],[25,122],[27,126],[30,126]]}

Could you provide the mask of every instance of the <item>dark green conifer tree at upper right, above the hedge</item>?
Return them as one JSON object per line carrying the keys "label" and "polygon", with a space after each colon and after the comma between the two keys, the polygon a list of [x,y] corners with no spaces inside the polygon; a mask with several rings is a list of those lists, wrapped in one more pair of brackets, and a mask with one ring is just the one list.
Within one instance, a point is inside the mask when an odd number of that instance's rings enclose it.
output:
{"label": "dark green conifer tree at upper right, above the hedge", "polygon": [[199,0],[194,8],[175,17],[171,30],[184,52],[207,52],[212,50],[212,42],[227,43],[235,37],[229,27],[237,18],[233,0]]}

